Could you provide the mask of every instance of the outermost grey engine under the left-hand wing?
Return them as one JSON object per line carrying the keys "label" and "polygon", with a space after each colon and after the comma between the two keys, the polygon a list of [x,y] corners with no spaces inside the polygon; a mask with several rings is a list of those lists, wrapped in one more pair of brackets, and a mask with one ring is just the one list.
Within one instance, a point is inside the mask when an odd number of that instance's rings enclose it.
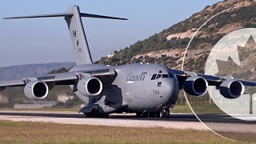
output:
{"label": "outermost grey engine under the left-hand wing", "polygon": [[32,81],[26,84],[24,93],[27,98],[40,100],[47,97],[49,88],[45,82]]}

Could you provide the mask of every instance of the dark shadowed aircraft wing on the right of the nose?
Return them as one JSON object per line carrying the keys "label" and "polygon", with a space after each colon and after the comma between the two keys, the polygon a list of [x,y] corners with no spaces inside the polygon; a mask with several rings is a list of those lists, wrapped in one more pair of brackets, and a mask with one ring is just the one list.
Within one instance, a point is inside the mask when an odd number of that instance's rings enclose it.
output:
{"label": "dark shadowed aircraft wing on the right of the nose", "polygon": [[242,82],[244,86],[256,86],[256,82],[252,81],[245,81],[242,79],[236,79],[231,76],[214,76],[214,75],[206,75],[206,74],[197,74],[194,72],[190,71],[182,71],[182,70],[172,70],[171,71],[177,76],[178,82],[180,83],[180,86],[182,88],[183,83],[186,81],[186,78],[189,77],[194,77],[194,76],[199,76],[202,78],[205,78],[206,81],[208,82],[209,86],[220,86],[222,82],[229,80],[229,79],[234,79],[239,82]]}

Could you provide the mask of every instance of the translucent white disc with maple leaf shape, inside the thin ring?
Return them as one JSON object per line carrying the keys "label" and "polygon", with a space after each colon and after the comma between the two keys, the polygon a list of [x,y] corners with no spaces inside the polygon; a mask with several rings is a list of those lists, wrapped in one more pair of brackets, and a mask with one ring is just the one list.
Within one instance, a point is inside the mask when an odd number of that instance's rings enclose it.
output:
{"label": "translucent white disc with maple leaf shape, inside the thin ring", "polygon": [[[226,34],[210,51],[205,74],[256,82],[255,40],[255,28],[235,30]],[[240,97],[230,99],[223,97],[215,86],[208,87],[210,98],[223,112],[244,121],[256,121],[256,90],[248,86],[243,91]]]}

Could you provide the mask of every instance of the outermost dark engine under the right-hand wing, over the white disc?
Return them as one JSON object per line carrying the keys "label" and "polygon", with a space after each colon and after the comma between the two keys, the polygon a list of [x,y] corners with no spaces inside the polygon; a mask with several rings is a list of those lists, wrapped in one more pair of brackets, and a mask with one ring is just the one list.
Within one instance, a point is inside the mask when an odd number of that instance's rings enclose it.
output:
{"label": "outermost dark engine under the right-hand wing, over the white disc", "polygon": [[239,98],[245,92],[245,86],[238,80],[230,79],[222,82],[219,91],[225,98],[234,99]]}

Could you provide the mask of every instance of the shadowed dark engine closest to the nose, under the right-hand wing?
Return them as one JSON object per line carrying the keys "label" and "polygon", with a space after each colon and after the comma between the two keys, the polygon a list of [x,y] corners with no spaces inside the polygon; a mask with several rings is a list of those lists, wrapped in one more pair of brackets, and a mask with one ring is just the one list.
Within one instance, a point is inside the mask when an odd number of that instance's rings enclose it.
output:
{"label": "shadowed dark engine closest to the nose, under the right-hand wing", "polygon": [[184,90],[187,94],[194,96],[201,96],[206,94],[208,87],[208,82],[205,78],[202,77],[190,77],[184,82]]}

